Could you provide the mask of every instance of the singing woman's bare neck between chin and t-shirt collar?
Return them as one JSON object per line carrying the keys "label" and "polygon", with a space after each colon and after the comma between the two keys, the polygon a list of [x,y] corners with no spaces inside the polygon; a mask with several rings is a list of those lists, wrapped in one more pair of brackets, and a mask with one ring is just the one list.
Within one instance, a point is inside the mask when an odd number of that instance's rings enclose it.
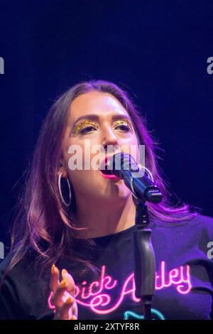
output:
{"label": "singing woman's bare neck between chin and t-shirt collar", "polygon": [[126,230],[135,224],[136,206],[132,195],[118,203],[91,203],[77,202],[77,221],[80,227],[87,230],[80,231],[80,238],[104,237]]}

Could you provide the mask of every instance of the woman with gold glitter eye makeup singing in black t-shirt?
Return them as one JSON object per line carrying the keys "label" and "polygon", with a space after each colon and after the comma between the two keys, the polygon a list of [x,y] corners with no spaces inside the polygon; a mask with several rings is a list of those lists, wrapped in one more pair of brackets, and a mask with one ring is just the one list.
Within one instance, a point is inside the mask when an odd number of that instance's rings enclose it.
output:
{"label": "woman with gold glitter eye makeup singing in black t-shirt", "polygon": [[163,195],[147,202],[152,318],[213,318],[213,219],[170,203],[145,120],[124,90],[92,80],[67,90],[43,122],[0,266],[1,319],[143,319],[133,277],[136,200],[106,171],[110,156],[131,147],[139,163],[140,146]]}

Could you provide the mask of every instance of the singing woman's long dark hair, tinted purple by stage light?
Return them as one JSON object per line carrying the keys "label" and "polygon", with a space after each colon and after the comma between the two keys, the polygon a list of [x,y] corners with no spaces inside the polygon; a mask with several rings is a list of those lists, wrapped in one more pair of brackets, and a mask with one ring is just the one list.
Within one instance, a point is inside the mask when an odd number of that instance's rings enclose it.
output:
{"label": "singing woman's long dark hair, tinted purple by stage light", "polygon": [[[18,200],[19,210],[13,224],[9,269],[25,257],[28,249],[33,249],[36,258],[43,262],[46,269],[50,269],[61,257],[66,257],[67,249],[72,251],[73,240],[79,231],[75,216],[75,196],[70,207],[63,205],[58,190],[58,168],[70,104],[76,97],[91,91],[107,92],[116,97],[131,117],[138,144],[145,145],[146,167],[163,193],[160,204],[147,203],[150,217],[175,223],[197,215],[189,205],[174,206],[170,203],[168,182],[160,176],[162,172],[159,171],[157,163],[158,144],[152,138],[146,120],[129,94],[112,82],[80,82],[56,100],[43,121],[33,161],[28,169],[25,190]],[[79,239],[79,242],[79,249],[90,249],[93,245],[91,239]],[[94,269],[91,262],[79,257],[77,253],[73,252],[73,259],[79,262],[82,268]],[[84,269],[82,274],[83,271]]]}

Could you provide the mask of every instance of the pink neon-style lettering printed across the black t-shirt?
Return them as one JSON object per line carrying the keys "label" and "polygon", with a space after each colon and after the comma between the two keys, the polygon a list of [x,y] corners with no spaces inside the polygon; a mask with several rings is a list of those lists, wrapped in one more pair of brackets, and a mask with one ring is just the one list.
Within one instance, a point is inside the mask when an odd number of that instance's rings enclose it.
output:
{"label": "pink neon-style lettering printed across the black t-shirt", "polygon": [[[106,266],[102,266],[101,277],[99,281],[93,281],[91,284],[89,284],[88,289],[87,281],[82,282],[82,289],[80,289],[80,286],[75,286],[75,298],[77,303],[82,306],[91,308],[94,313],[108,314],[115,311],[116,308],[121,305],[124,297],[127,295],[129,295],[131,300],[136,303],[140,301],[140,299],[136,298],[135,296],[136,286],[134,281],[134,274],[132,273],[124,281],[124,284],[121,287],[121,293],[119,293],[119,298],[117,299],[116,303],[114,303],[114,306],[103,309],[104,307],[109,306],[111,303],[111,296],[109,293],[106,293],[106,290],[109,291],[118,286],[118,280],[114,280],[109,275],[105,276],[105,271]],[[190,281],[190,266],[180,266],[179,268],[175,268],[166,272],[165,262],[162,261],[160,263],[160,271],[156,273],[155,289],[165,289],[172,285],[175,286],[175,289],[180,294],[187,294],[190,292],[190,289],[192,288]],[[89,298],[90,300],[86,302]],[[49,306],[50,308],[54,308],[54,306],[51,306],[50,297]]]}

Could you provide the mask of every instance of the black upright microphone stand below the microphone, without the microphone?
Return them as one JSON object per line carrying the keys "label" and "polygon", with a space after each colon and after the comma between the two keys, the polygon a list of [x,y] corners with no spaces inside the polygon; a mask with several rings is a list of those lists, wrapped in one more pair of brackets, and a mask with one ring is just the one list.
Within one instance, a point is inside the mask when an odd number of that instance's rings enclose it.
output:
{"label": "black upright microphone stand below the microphone, without the microphone", "polygon": [[146,201],[136,200],[136,232],[133,233],[135,294],[141,298],[144,319],[151,320],[151,302],[155,294],[155,252]]}

